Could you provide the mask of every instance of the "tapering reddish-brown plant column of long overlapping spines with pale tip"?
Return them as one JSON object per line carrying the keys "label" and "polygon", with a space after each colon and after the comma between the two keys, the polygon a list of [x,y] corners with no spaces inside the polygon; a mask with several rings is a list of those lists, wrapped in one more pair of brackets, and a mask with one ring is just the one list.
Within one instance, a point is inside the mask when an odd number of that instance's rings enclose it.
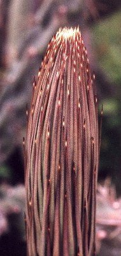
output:
{"label": "tapering reddish-brown plant column of long overlapping spines with pale tip", "polygon": [[25,145],[29,256],[95,255],[97,99],[79,29],[59,29],[41,63]]}

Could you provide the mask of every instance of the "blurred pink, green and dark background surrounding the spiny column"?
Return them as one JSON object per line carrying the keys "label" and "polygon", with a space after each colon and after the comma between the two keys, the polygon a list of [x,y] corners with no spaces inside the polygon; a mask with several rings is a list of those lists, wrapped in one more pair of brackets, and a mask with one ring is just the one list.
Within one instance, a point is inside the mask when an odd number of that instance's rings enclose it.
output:
{"label": "blurred pink, green and dark background surrounding the spiny column", "polygon": [[121,255],[121,2],[0,0],[0,255],[24,256],[24,154],[32,81],[59,27],[80,26],[96,74],[103,128],[97,255]]}

